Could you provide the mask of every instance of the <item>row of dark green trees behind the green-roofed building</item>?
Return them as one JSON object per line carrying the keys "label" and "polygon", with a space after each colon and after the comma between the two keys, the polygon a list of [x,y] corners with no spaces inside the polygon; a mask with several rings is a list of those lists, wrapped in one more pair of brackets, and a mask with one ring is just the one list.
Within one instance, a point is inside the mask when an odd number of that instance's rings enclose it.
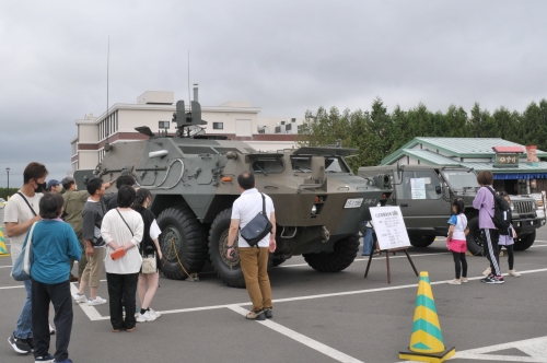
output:
{"label": "row of dark green trees behind the green-roofed building", "polygon": [[372,102],[370,112],[340,113],[337,107],[327,112],[319,107],[315,116],[306,112],[296,143],[324,147],[341,140],[345,148],[358,149],[347,159],[357,172],[360,166],[379,165],[382,159],[417,137],[502,138],[547,150],[547,101],[531,103],[522,114],[504,107],[491,114],[478,103],[469,113],[455,105],[446,113],[432,113],[420,103],[409,110],[396,106],[389,114],[381,98]]}

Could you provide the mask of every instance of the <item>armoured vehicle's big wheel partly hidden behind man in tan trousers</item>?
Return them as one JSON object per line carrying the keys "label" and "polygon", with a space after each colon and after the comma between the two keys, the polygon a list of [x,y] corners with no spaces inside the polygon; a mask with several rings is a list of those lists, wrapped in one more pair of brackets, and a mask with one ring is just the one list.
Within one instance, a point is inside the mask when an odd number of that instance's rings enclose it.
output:
{"label": "armoured vehicle's big wheel partly hidden behind man in tan trousers", "polygon": [[217,215],[209,230],[209,258],[222,282],[232,288],[245,288],[245,279],[240,265],[237,237],[235,238],[235,256],[226,258],[228,231],[232,221],[232,209],[225,209]]}

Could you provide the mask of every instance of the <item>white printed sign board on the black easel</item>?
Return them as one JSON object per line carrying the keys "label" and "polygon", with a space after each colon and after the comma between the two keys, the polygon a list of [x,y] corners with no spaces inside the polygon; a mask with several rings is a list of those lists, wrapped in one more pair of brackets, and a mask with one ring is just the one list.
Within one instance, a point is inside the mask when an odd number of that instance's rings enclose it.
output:
{"label": "white printed sign board on the black easel", "polygon": [[399,207],[373,207],[370,210],[380,249],[410,247]]}

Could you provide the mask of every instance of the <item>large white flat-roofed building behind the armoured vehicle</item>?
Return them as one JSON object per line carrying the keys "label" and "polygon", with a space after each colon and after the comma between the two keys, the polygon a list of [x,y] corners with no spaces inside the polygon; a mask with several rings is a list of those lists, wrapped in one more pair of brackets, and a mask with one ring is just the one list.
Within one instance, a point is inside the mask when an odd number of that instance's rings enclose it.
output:
{"label": "large white flat-roofed building behind the armoured vehicle", "polygon": [[[107,140],[115,144],[148,139],[135,128],[148,126],[152,132],[158,132],[158,121],[171,124],[174,104],[173,92],[148,91],[137,97],[137,104],[114,104],[100,117],[86,114],[83,119],[75,120],[78,133],[70,140],[72,171],[94,168],[104,156]],[[242,140],[255,150],[295,148],[298,128],[304,118],[258,117],[259,112],[259,107],[248,102],[226,102],[220,106],[201,106],[201,118],[207,121],[206,133]],[[174,124],[170,131],[174,133]]]}

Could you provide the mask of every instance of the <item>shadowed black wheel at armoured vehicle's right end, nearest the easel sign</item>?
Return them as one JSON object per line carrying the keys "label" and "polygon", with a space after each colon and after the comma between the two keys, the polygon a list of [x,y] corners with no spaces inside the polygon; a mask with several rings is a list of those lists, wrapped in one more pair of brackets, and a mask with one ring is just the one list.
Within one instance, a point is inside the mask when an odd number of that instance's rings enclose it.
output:
{"label": "shadowed black wheel at armoured vehicle's right end, nearest the easel sign", "polygon": [[319,272],[338,272],[349,267],[359,250],[359,236],[352,235],[337,241],[331,251],[302,255],[314,270]]}

